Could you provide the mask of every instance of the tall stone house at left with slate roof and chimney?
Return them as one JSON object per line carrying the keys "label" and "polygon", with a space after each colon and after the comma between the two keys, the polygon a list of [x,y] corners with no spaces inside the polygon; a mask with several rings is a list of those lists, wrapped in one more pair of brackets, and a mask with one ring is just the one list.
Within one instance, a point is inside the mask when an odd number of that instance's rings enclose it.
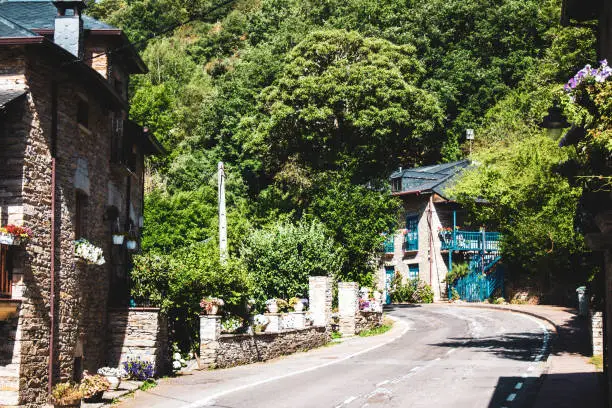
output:
{"label": "tall stone house at left with slate roof and chimney", "polygon": [[[112,234],[137,239],[144,157],[162,149],[128,118],[145,64],[84,7],[0,0],[0,226],[33,233],[0,245],[0,406],[44,405],[52,384],[118,364],[108,345],[128,330],[109,317],[127,310],[131,258]],[[78,238],[106,263],[79,262]]]}

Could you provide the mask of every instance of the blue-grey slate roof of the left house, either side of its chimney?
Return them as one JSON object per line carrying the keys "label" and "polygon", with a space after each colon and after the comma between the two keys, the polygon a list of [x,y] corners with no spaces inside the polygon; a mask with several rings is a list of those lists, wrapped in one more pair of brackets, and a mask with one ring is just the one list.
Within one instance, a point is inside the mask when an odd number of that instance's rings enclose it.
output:
{"label": "blue-grey slate roof of the left house, either side of its chimney", "polygon": [[[57,9],[48,0],[0,0],[0,15],[28,30],[53,30]],[[86,30],[116,30],[89,16],[83,16],[83,27]]]}

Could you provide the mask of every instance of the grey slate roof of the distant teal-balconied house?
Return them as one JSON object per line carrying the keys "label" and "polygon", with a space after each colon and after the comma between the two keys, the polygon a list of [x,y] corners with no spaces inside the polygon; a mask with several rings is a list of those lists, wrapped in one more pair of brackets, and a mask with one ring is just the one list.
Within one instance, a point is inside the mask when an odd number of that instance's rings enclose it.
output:
{"label": "grey slate roof of the distant teal-balconied house", "polygon": [[394,192],[395,195],[434,192],[446,197],[445,190],[453,184],[455,176],[459,175],[469,165],[468,160],[460,160],[433,166],[403,169],[391,174],[389,179],[402,179],[402,189]]}

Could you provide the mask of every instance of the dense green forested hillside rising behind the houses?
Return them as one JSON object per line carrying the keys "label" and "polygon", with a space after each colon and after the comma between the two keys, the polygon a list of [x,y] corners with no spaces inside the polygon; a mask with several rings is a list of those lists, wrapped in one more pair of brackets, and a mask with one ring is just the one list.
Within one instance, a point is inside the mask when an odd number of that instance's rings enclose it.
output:
{"label": "dense green forested hillside rising behind the houses", "polygon": [[[595,60],[591,29],[560,26],[559,0],[101,0],[88,12],[142,45],[150,72],[131,84],[131,115],[169,152],[150,163],[149,256],[135,272],[143,294],[160,263],[180,275],[194,257],[214,257],[218,161],[228,171],[232,257],[287,236],[269,245],[275,257],[232,264],[241,285],[263,287],[249,276],[285,270],[308,246],[333,253],[321,262],[337,276],[368,282],[380,234],[397,227],[386,178],[398,166],[465,157],[466,128],[477,130],[481,160],[510,161],[506,173],[479,179],[497,190],[472,180],[459,195],[495,203],[512,192],[479,214],[518,239],[506,243],[511,263],[558,273],[583,254],[573,230],[579,194],[547,173],[570,153],[538,127],[566,78]],[[186,247],[191,263],[176,255]],[[239,303],[241,294],[227,296]]]}

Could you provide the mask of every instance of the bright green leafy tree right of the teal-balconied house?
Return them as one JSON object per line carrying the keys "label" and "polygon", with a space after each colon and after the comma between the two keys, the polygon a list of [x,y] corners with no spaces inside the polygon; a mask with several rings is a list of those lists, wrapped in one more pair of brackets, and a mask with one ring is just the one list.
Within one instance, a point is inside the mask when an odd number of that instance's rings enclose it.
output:
{"label": "bright green leafy tree right of the teal-balconied house", "polygon": [[478,222],[494,223],[503,234],[502,253],[510,270],[526,273],[543,290],[584,282],[590,272],[576,270],[585,252],[573,223],[580,189],[555,172],[571,155],[571,149],[532,130],[511,144],[479,151],[477,165],[453,188]]}

